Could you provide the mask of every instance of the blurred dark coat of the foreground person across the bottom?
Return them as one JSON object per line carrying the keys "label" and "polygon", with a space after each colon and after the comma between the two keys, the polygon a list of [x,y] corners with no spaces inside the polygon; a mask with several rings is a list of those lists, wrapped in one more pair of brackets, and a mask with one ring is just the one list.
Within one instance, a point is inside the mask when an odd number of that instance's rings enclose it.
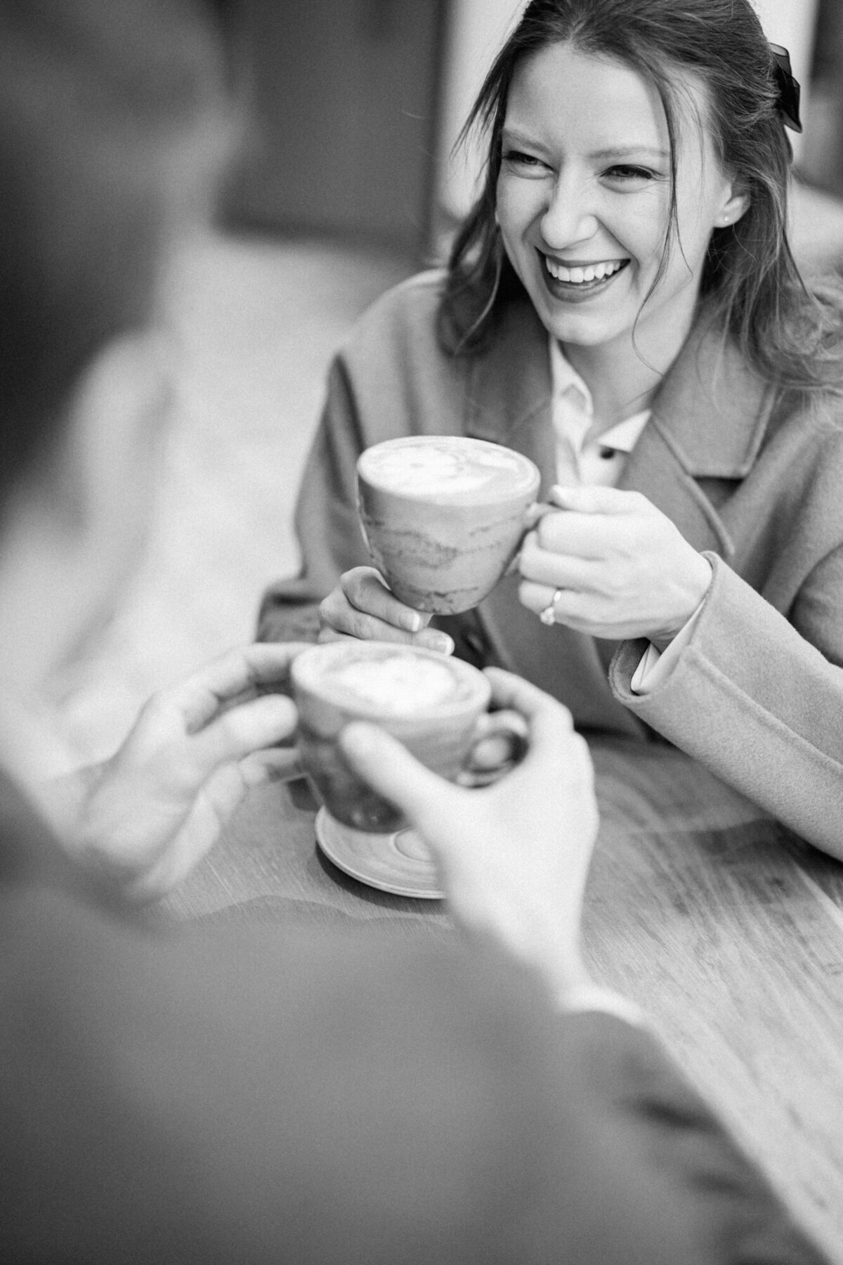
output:
{"label": "blurred dark coat of the foreground person across the bottom", "polygon": [[3,1260],[820,1260],[648,1036],[493,953],[40,894],[0,945]]}

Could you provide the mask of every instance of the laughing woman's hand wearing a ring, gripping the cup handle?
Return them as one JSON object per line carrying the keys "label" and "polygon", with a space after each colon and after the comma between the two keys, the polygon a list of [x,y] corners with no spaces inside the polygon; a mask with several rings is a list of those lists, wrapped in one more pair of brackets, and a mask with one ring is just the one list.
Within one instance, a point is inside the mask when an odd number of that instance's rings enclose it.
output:
{"label": "laughing woman's hand wearing a ring, gripping the cup handle", "polygon": [[641,492],[555,487],[552,501],[564,512],[546,514],[521,552],[523,605],[552,602],[557,624],[664,649],[705,596],[705,558]]}

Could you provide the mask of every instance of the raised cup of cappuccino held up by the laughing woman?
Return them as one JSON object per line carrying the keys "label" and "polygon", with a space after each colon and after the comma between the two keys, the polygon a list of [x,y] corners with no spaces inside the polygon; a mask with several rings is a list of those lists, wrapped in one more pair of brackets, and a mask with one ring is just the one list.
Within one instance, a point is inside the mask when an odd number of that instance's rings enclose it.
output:
{"label": "raised cup of cappuccino held up by the laughing woman", "polygon": [[538,495],[521,453],[461,435],[409,435],[358,459],[358,512],[374,565],[418,611],[455,615],[490,593]]}

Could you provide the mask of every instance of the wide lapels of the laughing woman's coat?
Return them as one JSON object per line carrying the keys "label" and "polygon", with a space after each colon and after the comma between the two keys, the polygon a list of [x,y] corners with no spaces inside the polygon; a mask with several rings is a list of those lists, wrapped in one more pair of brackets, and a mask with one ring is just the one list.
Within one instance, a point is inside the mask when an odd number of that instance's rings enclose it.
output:
{"label": "wide lapels of the laughing woman's coat", "polygon": [[[547,334],[527,302],[502,315],[494,343],[473,358],[465,434],[531,457],[541,495],[555,482]],[[722,330],[699,324],[665,376],[619,486],[643,492],[696,549],[733,554],[698,479],[741,479],[752,469],[776,392]]]}

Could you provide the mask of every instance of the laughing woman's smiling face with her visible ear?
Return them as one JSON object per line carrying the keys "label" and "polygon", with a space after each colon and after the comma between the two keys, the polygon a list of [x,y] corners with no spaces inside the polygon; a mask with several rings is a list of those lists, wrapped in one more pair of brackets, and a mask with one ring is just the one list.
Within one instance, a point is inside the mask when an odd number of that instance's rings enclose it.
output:
{"label": "laughing woman's smiling face with her visible ear", "polygon": [[564,344],[627,343],[641,312],[636,347],[666,368],[689,331],[712,231],[739,219],[747,199],[715,157],[701,83],[691,77],[688,91],[676,142],[679,240],[647,299],[670,213],[656,89],[622,62],[571,44],[549,46],[516,70],[498,221],[538,316]]}

